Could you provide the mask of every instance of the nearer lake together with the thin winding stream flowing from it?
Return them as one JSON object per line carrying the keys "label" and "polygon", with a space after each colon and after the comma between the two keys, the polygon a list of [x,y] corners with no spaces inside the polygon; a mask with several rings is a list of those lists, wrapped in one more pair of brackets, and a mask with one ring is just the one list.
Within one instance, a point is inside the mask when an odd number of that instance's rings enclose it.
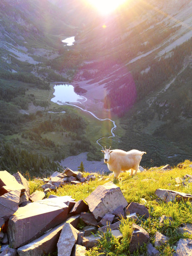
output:
{"label": "nearer lake together with the thin winding stream flowing from it", "polygon": [[84,108],[81,108],[78,105],[72,104],[70,102],[78,102],[80,103],[82,106],[84,102],[87,101],[87,98],[84,96],[80,96],[77,93],[74,92],[74,87],[73,85],[69,85],[69,84],[59,84],[59,85],[55,85],[54,86],[55,92],[53,93],[53,95],[55,96],[54,98],[51,99],[52,102],[55,102],[59,105],[70,105],[70,106],[74,106],[76,108],[81,109],[84,112],[90,113],[92,116],[94,116],[96,119],[100,120],[100,121],[105,121],[105,120],[109,120],[113,123],[113,127],[111,128],[111,136],[109,137],[102,137],[99,138],[96,143],[98,145],[100,145],[103,149],[103,146],[99,143],[99,140],[102,140],[103,138],[111,138],[111,137],[115,137],[114,134],[114,130],[116,129],[116,124],[115,121],[109,119],[109,118],[105,118],[105,119],[101,119],[99,117],[97,117],[93,112],[88,111]]}

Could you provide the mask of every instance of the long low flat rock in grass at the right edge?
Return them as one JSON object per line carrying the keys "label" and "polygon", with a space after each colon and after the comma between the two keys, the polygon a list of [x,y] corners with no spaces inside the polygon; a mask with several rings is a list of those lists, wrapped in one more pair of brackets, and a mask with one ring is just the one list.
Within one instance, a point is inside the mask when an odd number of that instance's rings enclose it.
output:
{"label": "long low flat rock in grass at the right edge", "polygon": [[192,201],[192,195],[173,191],[173,190],[167,190],[167,189],[156,189],[155,195],[157,195],[159,198],[166,202],[172,202],[172,201]]}

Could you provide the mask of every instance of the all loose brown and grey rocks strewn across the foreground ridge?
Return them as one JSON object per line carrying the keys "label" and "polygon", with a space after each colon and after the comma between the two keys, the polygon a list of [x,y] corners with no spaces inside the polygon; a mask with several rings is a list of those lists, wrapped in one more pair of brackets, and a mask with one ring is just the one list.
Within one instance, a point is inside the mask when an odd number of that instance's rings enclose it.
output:
{"label": "all loose brown and grey rocks strewn across the foreground ridge", "polygon": [[[95,179],[95,175],[84,178],[80,172],[67,168],[64,173],[54,173],[50,179],[44,179],[44,185],[48,184],[48,187],[43,185],[44,192],[41,191],[39,196],[44,198],[47,188],[55,190],[66,182],[79,183],[90,179]],[[163,193],[161,198],[165,199],[165,192]],[[37,194],[29,195],[28,182],[19,172],[15,175],[0,172],[0,242],[3,244],[0,256],[43,256],[56,250],[58,256],[84,256],[88,248],[99,242],[100,236],[93,233],[105,233],[110,228],[113,236],[122,239],[119,218],[134,218],[139,224],[138,216],[150,217],[144,204],[128,204],[121,189],[112,182],[98,186],[85,198],[86,203],[83,200],[76,202],[70,196],[56,195],[39,200]],[[192,200],[192,195],[182,194],[184,199]],[[163,215],[160,224],[163,225],[166,218],[172,221],[170,217]],[[82,230],[77,229],[80,219],[87,225]],[[150,241],[148,232],[137,224],[132,227],[130,253]],[[192,225],[180,227],[180,232],[186,230],[192,233]],[[168,240],[169,238],[157,232],[155,246]],[[190,255],[191,242],[192,239],[180,239],[175,256]],[[148,243],[147,248],[148,255],[160,255],[152,244]],[[180,254],[183,250],[186,254]]]}

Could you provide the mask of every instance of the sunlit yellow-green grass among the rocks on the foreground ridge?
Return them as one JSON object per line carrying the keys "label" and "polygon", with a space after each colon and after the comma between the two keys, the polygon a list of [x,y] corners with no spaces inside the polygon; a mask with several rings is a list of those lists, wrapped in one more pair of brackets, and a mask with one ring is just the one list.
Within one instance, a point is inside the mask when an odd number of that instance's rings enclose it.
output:
{"label": "sunlit yellow-green grass among the rocks on the foreground ridge", "polygon": [[[156,189],[169,189],[179,192],[192,194],[192,183],[187,183],[186,186],[175,186],[175,178],[183,177],[186,174],[192,175],[191,161],[185,160],[182,164],[178,164],[172,170],[162,171],[161,166],[158,168],[147,169],[147,171],[138,173],[134,177],[130,177],[127,173],[122,173],[119,177],[117,186],[122,190],[128,204],[131,202],[142,203],[142,198],[145,198],[147,203],[145,206],[148,208],[150,218],[147,220],[139,216],[140,226],[143,227],[150,235],[150,242],[154,245],[154,235],[158,231],[169,237],[169,242],[156,247],[160,251],[161,256],[172,256],[175,252],[175,243],[181,238],[192,239],[192,235],[184,233],[182,235],[178,232],[178,227],[183,223],[192,223],[192,205],[189,201],[169,202],[166,203],[157,198],[154,194]],[[88,173],[84,173],[86,177]],[[113,177],[107,175],[103,180],[99,181],[99,175],[96,180],[80,185],[65,185],[57,190],[57,192],[51,192],[51,194],[63,196],[70,195],[76,201],[85,199],[93,192],[97,186],[102,185],[108,181],[113,181]],[[146,180],[148,179],[148,180]],[[36,184],[36,185],[35,185]],[[30,181],[30,191],[34,192],[35,189],[41,189],[41,181],[33,179]],[[47,197],[50,194],[47,194]],[[158,200],[157,200],[158,199]],[[166,215],[173,218],[171,224],[165,221],[163,225],[160,225],[159,218],[162,215]],[[129,253],[129,241],[131,239],[132,223],[133,221],[122,218],[122,224],[119,227],[123,238],[119,241],[112,234],[110,229],[107,233],[99,233],[99,244],[87,251],[87,256],[130,256]],[[138,224],[138,223],[136,223]],[[146,244],[139,250],[135,251],[133,256],[146,256]]]}

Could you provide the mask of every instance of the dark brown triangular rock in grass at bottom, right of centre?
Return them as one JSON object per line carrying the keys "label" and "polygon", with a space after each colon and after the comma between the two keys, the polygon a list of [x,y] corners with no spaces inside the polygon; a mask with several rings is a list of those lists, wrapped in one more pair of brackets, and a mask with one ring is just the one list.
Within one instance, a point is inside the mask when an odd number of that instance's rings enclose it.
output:
{"label": "dark brown triangular rock in grass at bottom, right of centre", "polygon": [[147,231],[145,231],[142,227],[133,223],[133,232],[131,235],[131,241],[129,244],[129,251],[133,253],[135,250],[143,246],[143,244],[147,244],[150,240],[150,236]]}

